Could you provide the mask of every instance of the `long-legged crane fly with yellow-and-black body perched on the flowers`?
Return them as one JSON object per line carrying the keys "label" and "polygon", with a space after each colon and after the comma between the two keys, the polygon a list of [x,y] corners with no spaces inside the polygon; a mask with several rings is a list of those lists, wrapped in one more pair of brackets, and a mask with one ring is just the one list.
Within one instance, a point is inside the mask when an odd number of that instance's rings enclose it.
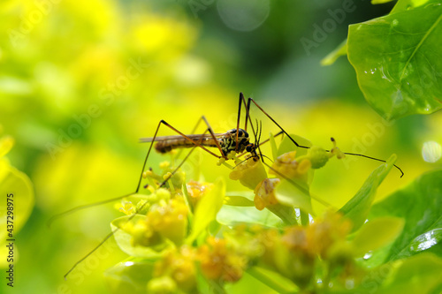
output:
{"label": "long-legged crane fly with yellow-and-black body perched on the flowers", "polygon": [[[245,160],[243,160],[243,162],[250,161],[250,160],[252,160],[254,162],[261,161],[267,167],[272,169],[271,165],[269,165],[264,160],[264,158],[268,158],[268,157],[263,155],[263,153],[261,152],[261,146],[263,144],[265,144],[266,142],[268,142],[269,139],[266,139],[266,140],[260,142],[261,132],[262,132],[262,123],[258,124],[256,121],[256,124],[253,124],[252,119],[250,117],[250,107],[252,106],[252,104],[255,105],[255,107],[257,109],[259,109],[266,117],[268,117],[273,124],[276,124],[278,126],[280,131],[275,136],[286,135],[287,138],[289,138],[293,142],[295,147],[305,148],[305,149],[310,148],[310,147],[303,146],[303,145],[299,144],[298,142],[296,142],[296,140],[294,140],[286,132],[286,130],[284,130],[276,122],[276,120],[273,117],[271,117],[259,104],[257,104],[252,98],[248,98],[248,100],[246,101],[244,95],[242,93],[240,93],[240,99],[239,99],[239,104],[238,104],[237,125],[236,125],[236,128],[234,128],[232,130],[229,130],[229,131],[223,132],[223,133],[215,133],[215,132],[213,132],[206,117],[202,116],[198,120],[198,123],[197,123],[197,125],[198,125],[201,122],[203,122],[206,125],[206,130],[202,134],[184,134],[183,132],[180,132],[177,128],[173,127],[171,124],[168,124],[164,120],[161,120],[158,123],[158,125],[156,126],[156,131],[155,131],[153,137],[141,138],[141,142],[152,142],[152,143],[156,142],[155,149],[157,152],[162,153],[162,154],[167,153],[167,152],[169,152],[173,149],[177,149],[177,148],[189,148],[189,147],[191,148],[191,150],[187,153],[187,155],[185,156],[183,161],[181,161],[179,163],[179,165],[174,170],[172,170],[164,178],[164,180],[161,183],[158,183],[157,187],[164,186],[167,183],[167,181],[169,179],[171,179],[173,174],[175,174],[177,172],[177,170],[179,170],[179,168],[187,160],[187,158],[192,154],[192,152],[194,151],[194,149],[196,147],[199,147],[202,150],[204,150],[205,152],[209,153],[210,155],[217,157],[218,164],[224,164],[226,161],[229,161],[229,160],[238,160],[238,158],[240,158],[241,156],[248,154],[248,157]],[[246,118],[244,121],[244,127],[240,128],[240,118],[241,118],[241,109],[242,108],[244,108],[246,110]],[[161,126],[168,127],[169,129],[171,129],[171,131],[176,132],[177,135],[165,136],[165,137],[157,136],[158,131]],[[248,134],[248,126],[252,130],[253,136],[255,137],[255,142],[250,141],[251,136]],[[195,129],[196,129],[196,126],[195,126],[194,130]],[[103,203],[108,203],[108,202],[115,201],[115,200],[121,200],[121,199],[126,198],[130,195],[138,193],[142,187],[141,181],[143,178],[143,173],[146,170],[149,155],[152,151],[153,146],[154,146],[154,144],[150,144],[150,146],[149,146],[149,150],[148,150],[147,155],[146,155],[144,162],[142,164],[141,175],[140,175],[140,178],[138,180],[138,184],[137,184],[134,192],[127,193],[126,195],[118,196],[118,197],[112,198],[110,200],[104,200],[104,201],[95,202],[95,203],[80,206],[80,207],[74,207],[70,210],[67,210],[66,212],[64,212],[62,214],[53,216],[50,219],[50,223],[54,222],[59,217],[72,214],[73,212],[78,211],[80,209],[100,205]],[[217,151],[210,150],[209,148],[216,148]],[[333,150],[335,150],[335,149],[333,148],[331,150],[324,150],[324,151],[328,152],[328,153],[332,153]],[[341,154],[342,155],[361,156],[361,157],[365,157],[365,158],[375,160],[378,162],[385,162],[385,160],[377,159],[375,157],[371,157],[371,156],[367,156],[367,155],[360,155],[360,154],[353,154],[353,153],[341,153]],[[400,168],[398,166],[394,165],[394,167],[396,167],[398,170],[400,170]],[[231,168],[234,169],[234,167],[231,167]],[[275,172],[278,173],[278,170],[275,170]],[[402,177],[403,176],[402,170],[400,170],[400,173],[401,173],[400,177]],[[284,175],[282,175],[280,173],[279,173],[279,176],[285,177]],[[144,185],[144,187],[146,187],[146,186]],[[302,189],[302,187],[301,187],[301,189]],[[141,207],[139,208],[139,210],[141,210]],[[136,215],[136,212],[131,217],[133,217],[134,215]],[[130,221],[130,220],[131,220],[131,218],[128,219],[128,221]],[[72,268],[65,274],[65,278],[67,275],[69,275],[72,272],[72,270],[74,268],[76,268],[80,264],[80,262],[87,259],[91,253],[94,253],[95,250],[97,250],[101,245],[103,245],[103,243],[106,242],[106,240],[109,239],[117,230],[118,229],[112,230],[110,232],[110,234],[108,234],[103,239],[103,241],[100,244],[98,244],[90,253],[88,253],[85,257],[83,257],[78,262],[76,262],[72,266]]]}

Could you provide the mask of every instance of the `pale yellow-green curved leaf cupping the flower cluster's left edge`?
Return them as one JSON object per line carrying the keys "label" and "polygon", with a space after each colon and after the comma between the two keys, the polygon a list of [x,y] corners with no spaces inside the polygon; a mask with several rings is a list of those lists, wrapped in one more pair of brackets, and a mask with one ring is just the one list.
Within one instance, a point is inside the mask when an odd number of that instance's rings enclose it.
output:
{"label": "pale yellow-green curved leaf cupping the flower cluster's left edge", "polygon": [[[112,222],[110,222],[111,230],[112,231],[116,230],[114,233],[114,237],[115,237],[115,241],[117,242],[117,245],[119,246],[119,248],[123,252],[125,252],[131,256],[135,256],[135,257],[156,259],[160,256],[163,256],[163,253],[161,251],[154,250],[151,247],[132,244],[133,236],[121,228],[127,222],[133,222],[134,224],[139,221],[145,222],[146,215],[134,215],[133,218],[131,219],[132,216],[133,215],[121,216],[121,217],[116,218]],[[162,245],[160,245],[156,249],[159,249],[159,250],[164,249],[166,247],[166,245],[167,244],[163,243]]]}

